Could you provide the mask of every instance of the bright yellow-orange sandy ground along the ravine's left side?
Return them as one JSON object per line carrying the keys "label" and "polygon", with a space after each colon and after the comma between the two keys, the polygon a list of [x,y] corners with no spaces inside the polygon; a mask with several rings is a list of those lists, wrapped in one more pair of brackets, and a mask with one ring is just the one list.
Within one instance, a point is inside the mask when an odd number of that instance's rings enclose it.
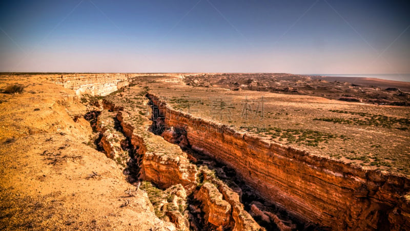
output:
{"label": "bright yellow-orange sandy ground along the ravine's left side", "polygon": [[[26,86],[0,94],[0,229],[168,230],[147,194],[130,196],[118,165],[84,143],[92,134],[72,90],[38,77],[0,79]],[[156,229],[158,228],[158,229]]]}

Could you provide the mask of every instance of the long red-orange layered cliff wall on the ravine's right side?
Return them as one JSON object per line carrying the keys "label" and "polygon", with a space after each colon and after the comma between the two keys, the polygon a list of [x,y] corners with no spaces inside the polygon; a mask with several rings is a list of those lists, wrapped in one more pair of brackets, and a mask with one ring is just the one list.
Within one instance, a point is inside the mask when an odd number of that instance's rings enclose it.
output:
{"label": "long red-orange layered cliff wall on the ravine's right side", "polygon": [[[156,97],[150,96],[158,105]],[[409,230],[410,181],[310,155],[211,121],[159,107],[191,148],[231,166],[261,196],[334,230]]]}

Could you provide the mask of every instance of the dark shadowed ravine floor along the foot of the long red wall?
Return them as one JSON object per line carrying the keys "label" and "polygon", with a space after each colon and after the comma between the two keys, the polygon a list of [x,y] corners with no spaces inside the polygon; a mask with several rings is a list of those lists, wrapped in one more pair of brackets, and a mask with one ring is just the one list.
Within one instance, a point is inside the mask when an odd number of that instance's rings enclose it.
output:
{"label": "dark shadowed ravine floor along the foot of the long red wall", "polygon": [[[181,149],[188,154],[191,161],[197,165],[198,169],[206,167],[206,169],[211,170],[218,179],[236,188],[241,194],[240,202],[244,205],[245,210],[253,215],[253,218],[260,226],[267,230],[324,230],[316,224],[303,223],[300,219],[292,217],[284,208],[269,203],[238,178],[234,169],[213,158],[212,153],[201,153],[193,150],[187,138],[187,131],[183,128],[168,127],[165,122],[165,115],[161,114],[158,110],[158,106],[152,100],[150,100],[149,104],[152,108],[152,125],[150,131],[155,135],[162,136],[171,143],[178,144]],[[199,183],[202,183],[203,179],[199,179],[199,181]],[[192,195],[190,201],[196,205],[199,203]],[[196,208],[195,206],[193,207]],[[259,209],[263,209],[263,211]],[[195,214],[195,209],[191,209],[190,212]],[[265,213],[273,214],[277,219],[267,218]],[[200,219],[197,219],[196,222],[201,223]]]}

